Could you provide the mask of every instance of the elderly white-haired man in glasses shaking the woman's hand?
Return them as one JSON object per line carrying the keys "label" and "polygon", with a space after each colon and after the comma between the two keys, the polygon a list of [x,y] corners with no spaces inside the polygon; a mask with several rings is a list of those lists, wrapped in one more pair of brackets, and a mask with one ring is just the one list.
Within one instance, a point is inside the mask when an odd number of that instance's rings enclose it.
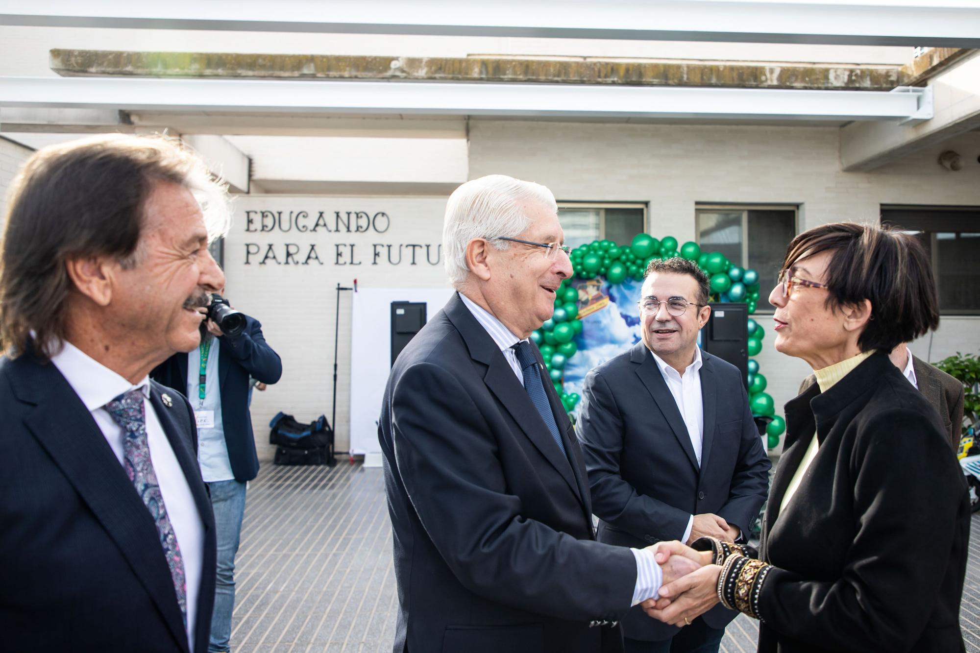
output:
{"label": "elderly white-haired man in glasses shaking the woman's hand", "polygon": [[443,230],[457,293],[399,356],[379,421],[395,651],[614,651],[617,621],[694,569],[595,541],[582,453],[531,331],[571,276],[544,186],[484,176]]}

